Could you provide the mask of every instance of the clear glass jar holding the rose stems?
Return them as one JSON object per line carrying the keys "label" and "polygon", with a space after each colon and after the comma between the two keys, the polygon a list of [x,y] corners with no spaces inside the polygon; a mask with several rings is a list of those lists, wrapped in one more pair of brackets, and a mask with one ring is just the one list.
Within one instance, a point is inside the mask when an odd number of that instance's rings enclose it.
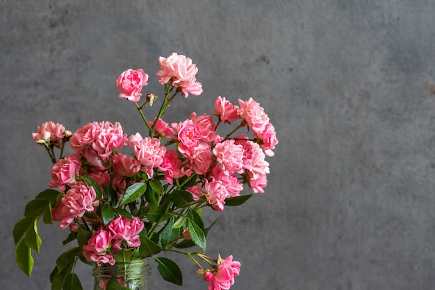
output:
{"label": "clear glass jar holding the rose stems", "polygon": [[149,290],[151,267],[147,259],[131,262],[95,264],[94,290]]}

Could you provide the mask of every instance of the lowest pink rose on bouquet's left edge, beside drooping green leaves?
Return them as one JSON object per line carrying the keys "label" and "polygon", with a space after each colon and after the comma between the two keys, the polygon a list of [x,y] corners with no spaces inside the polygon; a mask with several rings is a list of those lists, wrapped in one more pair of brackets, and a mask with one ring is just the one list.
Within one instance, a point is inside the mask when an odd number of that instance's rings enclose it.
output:
{"label": "lowest pink rose on bouquet's left edge, beside drooping green leaves", "polygon": [[59,227],[64,229],[85,212],[93,212],[98,203],[93,187],[88,187],[83,181],[76,182],[71,185],[54,209],[53,220],[60,220]]}

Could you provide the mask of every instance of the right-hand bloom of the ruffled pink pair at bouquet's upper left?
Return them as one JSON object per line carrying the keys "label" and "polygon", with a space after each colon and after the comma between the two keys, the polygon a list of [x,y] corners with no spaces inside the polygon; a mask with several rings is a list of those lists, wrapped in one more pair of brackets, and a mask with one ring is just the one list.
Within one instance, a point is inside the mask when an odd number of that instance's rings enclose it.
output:
{"label": "right-hand bloom of the ruffled pink pair at bouquet's upper left", "polygon": [[127,135],[122,133],[121,124],[116,122],[93,123],[92,148],[101,157],[108,157],[114,150],[119,151],[127,144]]}

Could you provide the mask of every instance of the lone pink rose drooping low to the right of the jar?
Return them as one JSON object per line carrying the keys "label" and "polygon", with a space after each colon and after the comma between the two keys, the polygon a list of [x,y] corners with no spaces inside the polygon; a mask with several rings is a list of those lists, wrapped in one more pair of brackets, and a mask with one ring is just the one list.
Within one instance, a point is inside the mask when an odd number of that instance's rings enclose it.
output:
{"label": "lone pink rose drooping low to the right of the jar", "polygon": [[[233,261],[233,256],[220,259],[217,264],[213,279],[208,284],[208,290],[228,290],[234,284],[234,277],[240,274],[240,262]],[[205,275],[204,275],[205,279]],[[208,280],[210,276],[207,276]]]}

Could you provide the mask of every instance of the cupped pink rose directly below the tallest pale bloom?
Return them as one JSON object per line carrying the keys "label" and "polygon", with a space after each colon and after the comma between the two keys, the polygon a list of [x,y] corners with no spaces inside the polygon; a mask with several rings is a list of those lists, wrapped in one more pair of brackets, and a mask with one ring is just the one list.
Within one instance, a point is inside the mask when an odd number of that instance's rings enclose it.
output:
{"label": "cupped pink rose directly below the tallest pale bloom", "polygon": [[177,131],[179,140],[179,151],[184,156],[192,153],[193,149],[199,145],[201,139],[201,130],[192,120],[183,121],[183,123],[172,123],[172,128]]}

